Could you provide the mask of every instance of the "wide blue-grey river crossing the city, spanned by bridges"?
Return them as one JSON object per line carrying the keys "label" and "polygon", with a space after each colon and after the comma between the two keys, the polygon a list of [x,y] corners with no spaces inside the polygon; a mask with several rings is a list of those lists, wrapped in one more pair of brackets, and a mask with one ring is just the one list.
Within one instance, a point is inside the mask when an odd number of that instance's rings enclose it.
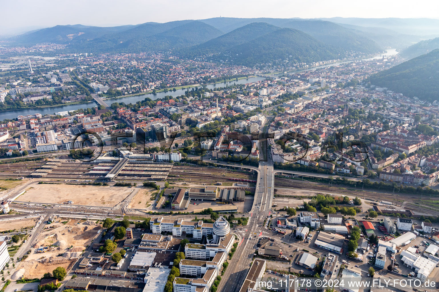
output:
{"label": "wide blue-grey river crossing the city, spanned by bridges", "polygon": [[[384,55],[385,56],[393,56],[398,54],[398,52],[396,51],[396,49],[388,49],[385,51]],[[371,57],[371,58],[367,58],[367,59],[363,59],[364,61],[369,61],[369,60],[375,60],[375,59],[381,59],[383,54],[379,54],[377,56]],[[336,63],[331,63],[331,64],[324,64],[321,66],[317,66],[317,67],[312,67],[312,68],[306,68],[306,69],[300,69],[300,70],[294,70],[294,71],[288,71],[288,73],[293,73],[293,72],[305,72],[305,71],[310,71],[310,70],[316,70],[318,68],[324,68],[324,67],[330,67],[330,66],[337,66],[340,64],[344,64],[344,63],[349,63],[349,62],[353,62],[355,60],[344,60],[344,61],[340,61],[340,62],[336,62]],[[284,75],[284,73],[280,73],[280,74],[276,74],[275,76],[281,76]],[[213,89],[216,87],[225,87],[226,84],[246,84],[246,83],[251,83],[251,82],[255,82],[255,81],[261,81],[264,80],[264,77],[250,77],[248,79],[240,79],[238,81],[228,81],[228,82],[218,82],[216,84],[208,84],[206,85],[207,88],[209,89]],[[136,103],[139,100],[144,100],[145,98],[149,97],[152,100],[155,99],[161,99],[163,97],[165,97],[166,95],[172,95],[173,97],[177,97],[179,95],[183,95],[184,91],[186,91],[185,89],[180,89],[177,91],[168,91],[168,92],[159,92],[156,94],[152,94],[152,93],[146,93],[146,94],[142,94],[142,95],[135,95],[135,96],[127,96],[127,97],[122,97],[119,99],[107,99],[105,100],[105,102],[108,105],[111,105],[113,102],[125,102],[125,103]],[[76,105],[65,105],[65,106],[50,106],[50,107],[45,107],[45,108],[38,108],[38,109],[14,109],[14,110],[9,110],[9,111],[0,111],[0,121],[4,120],[4,119],[14,119],[17,116],[20,115],[33,115],[35,113],[40,113],[43,116],[47,115],[47,114],[54,114],[54,113],[58,113],[58,112],[63,112],[63,111],[73,111],[76,109],[84,109],[84,108],[91,108],[94,106],[97,106],[97,102],[92,101],[92,102],[87,102],[87,103],[80,103],[80,104],[76,104]]]}

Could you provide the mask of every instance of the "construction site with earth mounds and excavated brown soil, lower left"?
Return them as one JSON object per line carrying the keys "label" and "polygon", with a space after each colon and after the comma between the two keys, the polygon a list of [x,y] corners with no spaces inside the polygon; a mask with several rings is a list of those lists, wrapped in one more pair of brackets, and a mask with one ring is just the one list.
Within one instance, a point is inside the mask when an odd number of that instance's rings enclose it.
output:
{"label": "construction site with earth mounds and excavated brown soil, lower left", "polygon": [[94,221],[53,218],[37,236],[28,256],[16,264],[11,278],[41,278],[56,267],[70,270],[101,228]]}

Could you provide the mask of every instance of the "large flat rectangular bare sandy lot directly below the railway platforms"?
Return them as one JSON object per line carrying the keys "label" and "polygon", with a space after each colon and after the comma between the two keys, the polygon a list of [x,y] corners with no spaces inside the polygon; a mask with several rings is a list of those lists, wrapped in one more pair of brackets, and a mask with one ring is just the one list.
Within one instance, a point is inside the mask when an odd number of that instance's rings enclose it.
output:
{"label": "large flat rectangular bare sandy lot directly below the railway platforms", "polygon": [[[17,201],[34,203],[73,204],[114,207],[123,201],[132,188],[121,186],[80,186],[67,184],[32,184]],[[80,198],[80,201],[79,201]]]}

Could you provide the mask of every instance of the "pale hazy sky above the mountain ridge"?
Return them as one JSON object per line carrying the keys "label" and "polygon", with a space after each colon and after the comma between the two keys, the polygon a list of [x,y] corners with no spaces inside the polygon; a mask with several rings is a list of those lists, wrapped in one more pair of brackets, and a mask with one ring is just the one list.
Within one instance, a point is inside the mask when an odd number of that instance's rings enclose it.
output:
{"label": "pale hazy sky above the mountain ridge", "polygon": [[439,18],[439,1],[421,0],[13,0],[1,1],[0,34],[55,25],[135,25],[213,17]]}

